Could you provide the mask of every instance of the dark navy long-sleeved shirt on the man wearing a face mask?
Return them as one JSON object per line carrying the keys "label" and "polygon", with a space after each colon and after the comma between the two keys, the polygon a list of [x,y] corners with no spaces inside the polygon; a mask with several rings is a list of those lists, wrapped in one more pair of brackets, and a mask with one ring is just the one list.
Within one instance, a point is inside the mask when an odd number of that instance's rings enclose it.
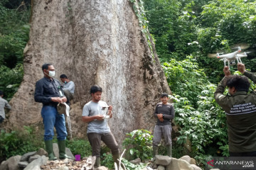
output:
{"label": "dark navy long-sleeved shirt on the man wearing a face mask", "polygon": [[[61,94],[60,92],[61,91]],[[43,103],[43,106],[57,106],[58,102],[51,101],[52,97],[62,97],[63,91],[60,86],[60,81],[57,79],[48,79],[43,77],[36,81],[36,90],[35,90],[35,101]]]}

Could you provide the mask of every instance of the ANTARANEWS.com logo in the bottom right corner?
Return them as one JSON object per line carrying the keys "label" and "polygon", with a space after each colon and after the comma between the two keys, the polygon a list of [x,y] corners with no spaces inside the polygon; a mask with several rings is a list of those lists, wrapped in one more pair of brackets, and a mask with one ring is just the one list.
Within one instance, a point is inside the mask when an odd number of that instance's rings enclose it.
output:
{"label": "ANTARANEWS.com logo in the bottom right corner", "polygon": [[256,157],[209,157],[206,169],[247,170],[256,169]]}

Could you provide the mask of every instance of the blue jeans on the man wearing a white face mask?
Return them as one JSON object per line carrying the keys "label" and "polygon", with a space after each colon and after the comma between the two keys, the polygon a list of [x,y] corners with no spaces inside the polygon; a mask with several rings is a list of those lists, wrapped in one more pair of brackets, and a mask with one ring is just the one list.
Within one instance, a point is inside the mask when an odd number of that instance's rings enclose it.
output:
{"label": "blue jeans on the man wearing a white face mask", "polygon": [[43,106],[41,115],[43,118],[44,125],[44,140],[53,140],[54,127],[57,132],[58,140],[65,140],[68,135],[67,129],[65,128],[65,116],[60,115],[57,108],[54,106]]}

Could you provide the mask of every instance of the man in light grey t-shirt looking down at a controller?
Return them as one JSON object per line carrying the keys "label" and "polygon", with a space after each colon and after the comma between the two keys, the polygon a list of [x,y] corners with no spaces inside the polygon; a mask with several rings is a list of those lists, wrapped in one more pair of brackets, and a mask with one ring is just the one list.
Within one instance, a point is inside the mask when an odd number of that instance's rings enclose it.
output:
{"label": "man in light grey t-shirt looking down at a controller", "polygon": [[88,123],[87,137],[92,146],[92,156],[96,157],[95,167],[100,166],[100,141],[111,149],[114,162],[119,159],[119,147],[114,135],[107,125],[107,119],[112,118],[112,106],[107,106],[105,101],[100,101],[102,88],[94,85],[90,89],[92,101],[85,104],[82,109],[82,121]]}

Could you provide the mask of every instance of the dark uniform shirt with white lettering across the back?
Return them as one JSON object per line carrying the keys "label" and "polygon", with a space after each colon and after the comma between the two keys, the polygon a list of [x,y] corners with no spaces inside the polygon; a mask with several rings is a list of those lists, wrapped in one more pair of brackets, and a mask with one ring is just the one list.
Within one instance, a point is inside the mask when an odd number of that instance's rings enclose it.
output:
{"label": "dark uniform shirt with white lettering across the back", "polygon": [[[245,76],[256,81],[255,74],[245,72]],[[230,152],[256,151],[256,91],[247,94],[237,91],[233,96],[223,95],[224,78],[215,91],[215,101],[226,113]]]}

